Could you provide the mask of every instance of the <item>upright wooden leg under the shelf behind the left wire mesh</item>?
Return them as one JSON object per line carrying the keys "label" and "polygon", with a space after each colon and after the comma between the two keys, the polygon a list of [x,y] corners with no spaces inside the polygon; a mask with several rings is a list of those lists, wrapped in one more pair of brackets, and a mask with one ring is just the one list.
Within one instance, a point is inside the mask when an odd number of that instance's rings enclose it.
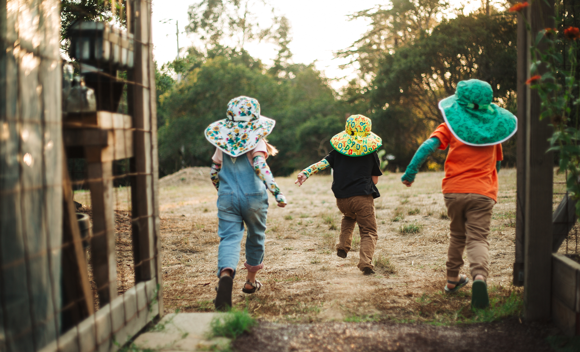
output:
{"label": "upright wooden leg under the shelf behind the left wire mesh", "polygon": [[115,259],[115,211],[113,208],[113,163],[88,163],[90,201],[93,208],[91,262],[100,306],[117,297]]}

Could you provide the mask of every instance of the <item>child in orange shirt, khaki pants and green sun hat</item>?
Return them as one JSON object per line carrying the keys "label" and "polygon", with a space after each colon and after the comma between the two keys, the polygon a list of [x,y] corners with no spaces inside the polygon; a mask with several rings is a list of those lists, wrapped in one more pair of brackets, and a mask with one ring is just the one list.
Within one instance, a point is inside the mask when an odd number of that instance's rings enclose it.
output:
{"label": "child in orange shirt, khaki pants and green sun hat", "polygon": [[489,272],[487,236],[491,214],[498,196],[498,171],[503,141],[517,130],[517,119],[506,109],[492,104],[493,90],[477,79],[458,83],[455,95],[439,102],[445,123],[440,124],[415,153],[401,177],[410,187],[418,168],[430,153],[449,146],[445,160],[443,197],[451,223],[447,250],[447,285],[451,294],[469,283],[459,275],[463,250],[473,278],[472,306],[489,306],[487,284]]}

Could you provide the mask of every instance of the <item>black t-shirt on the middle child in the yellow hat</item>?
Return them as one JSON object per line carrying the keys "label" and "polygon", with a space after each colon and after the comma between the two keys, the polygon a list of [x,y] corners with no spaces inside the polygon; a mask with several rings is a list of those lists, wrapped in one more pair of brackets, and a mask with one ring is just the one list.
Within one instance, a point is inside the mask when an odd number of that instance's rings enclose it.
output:
{"label": "black t-shirt on the middle child in the yellow hat", "polygon": [[347,156],[335,150],[324,159],[333,170],[332,192],[336,198],[372,195],[380,197],[371,176],[380,176],[379,156],[372,152],[362,156]]}

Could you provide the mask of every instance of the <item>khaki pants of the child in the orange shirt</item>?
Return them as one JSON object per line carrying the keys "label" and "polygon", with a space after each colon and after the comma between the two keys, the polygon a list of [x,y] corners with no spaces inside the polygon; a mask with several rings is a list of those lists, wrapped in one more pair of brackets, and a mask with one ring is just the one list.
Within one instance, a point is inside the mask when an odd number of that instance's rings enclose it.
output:
{"label": "khaki pants of the child in the orange shirt", "polygon": [[477,193],[445,193],[447,215],[451,219],[451,238],[447,249],[447,276],[456,277],[463,266],[463,248],[472,277],[481,274],[487,278],[490,270],[488,252],[490,243],[491,211],[495,201]]}

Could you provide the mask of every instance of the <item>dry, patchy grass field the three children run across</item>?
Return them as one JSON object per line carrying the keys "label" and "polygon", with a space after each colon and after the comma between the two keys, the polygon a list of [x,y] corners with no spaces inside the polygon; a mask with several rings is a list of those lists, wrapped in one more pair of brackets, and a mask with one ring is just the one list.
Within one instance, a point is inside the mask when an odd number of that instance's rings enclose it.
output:
{"label": "dry, patchy grass field the three children run across", "polygon": [[[209,168],[190,171],[162,179],[160,184],[167,313],[177,308],[213,309],[219,243],[217,193],[209,181]],[[190,182],[190,177],[195,181]],[[293,184],[293,177],[277,178],[289,204],[278,208],[270,197],[266,269],[258,274],[264,288],[255,295],[241,292],[245,281],[242,243],[234,306],[245,307],[267,321],[433,321],[453,320],[458,314],[469,316],[469,289],[451,297],[441,293],[449,233],[440,193],[442,177],[440,172],[421,173],[412,188],[401,185],[400,174],[380,178],[382,196],[375,200],[379,230],[375,258],[383,267],[371,277],[362,276],[356,267],[356,246],[346,259],[333,250],[340,213],[330,189],[331,176],[315,175],[300,188]],[[502,170],[499,182],[489,238],[488,283],[496,300],[519,290],[511,285],[515,170]],[[419,232],[402,233],[401,228]],[[357,233],[358,228],[354,243]],[[466,261],[462,273],[468,273],[468,265]]]}

